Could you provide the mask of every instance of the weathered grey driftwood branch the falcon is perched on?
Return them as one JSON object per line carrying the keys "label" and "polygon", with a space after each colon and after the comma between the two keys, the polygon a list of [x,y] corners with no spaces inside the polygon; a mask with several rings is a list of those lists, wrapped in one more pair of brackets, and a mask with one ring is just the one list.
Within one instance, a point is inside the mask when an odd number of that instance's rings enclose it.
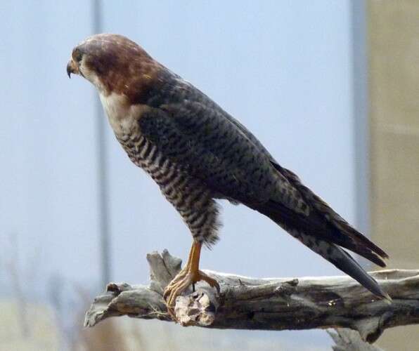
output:
{"label": "weathered grey driftwood branch the falcon is perched on", "polygon": [[[86,312],[85,326],[103,319],[128,315],[143,319],[171,320],[162,292],[179,272],[181,260],[154,252],[149,286],[108,284]],[[375,341],[392,326],[419,323],[419,270],[382,270],[370,274],[392,297],[378,300],[349,277],[298,279],[240,277],[205,270],[217,279],[221,294],[205,283],[176,300],[175,313],[183,326],[219,329],[349,328],[363,340]]]}

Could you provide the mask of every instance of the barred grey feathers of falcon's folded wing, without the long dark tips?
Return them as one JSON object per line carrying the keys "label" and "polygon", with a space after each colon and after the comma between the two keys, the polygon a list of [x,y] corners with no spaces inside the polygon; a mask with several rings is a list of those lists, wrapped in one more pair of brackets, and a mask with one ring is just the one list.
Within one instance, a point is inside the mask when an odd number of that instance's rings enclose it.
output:
{"label": "barred grey feathers of falcon's folded wing, without the long dark tips", "polygon": [[214,193],[252,207],[273,200],[296,213],[309,211],[270,157],[217,105],[189,100],[162,105],[138,123],[146,138]]}

